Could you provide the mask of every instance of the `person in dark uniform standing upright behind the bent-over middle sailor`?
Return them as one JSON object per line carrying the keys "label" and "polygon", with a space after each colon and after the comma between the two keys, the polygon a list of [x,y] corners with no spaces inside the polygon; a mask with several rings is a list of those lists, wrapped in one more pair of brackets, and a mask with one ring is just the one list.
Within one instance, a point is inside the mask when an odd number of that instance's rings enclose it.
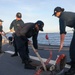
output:
{"label": "person in dark uniform standing upright behind the bent-over middle sailor", "polygon": [[[10,30],[11,30],[12,28],[14,28],[15,33],[16,33],[16,30],[19,29],[19,27],[23,27],[23,25],[24,25],[24,22],[23,22],[23,20],[21,19],[21,17],[22,17],[21,13],[18,12],[18,13],[16,14],[16,17],[17,17],[17,18],[20,18],[20,20],[15,19],[15,20],[12,21],[12,23],[11,23],[11,25],[10,25]],[[14,37],[13,45],[14,45],[14,48],[15,48],[15,53],[12,55],[12,57],[18,55],[18,49],[17,49],[17,46],[16,46],[16,44],[18,44],[18,43],[16,42],[18,36],[17,36],[15,33],[13,34],[13,37]]]}

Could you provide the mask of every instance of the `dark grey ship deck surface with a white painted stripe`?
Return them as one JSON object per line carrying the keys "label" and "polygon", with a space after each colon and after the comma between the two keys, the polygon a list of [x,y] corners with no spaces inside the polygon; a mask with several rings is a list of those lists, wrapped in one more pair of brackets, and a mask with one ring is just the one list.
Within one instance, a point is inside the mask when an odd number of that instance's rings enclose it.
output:
{"label": "dark grey ship deck surface with a white painted stripe", "polygon": [[[64,47],[61,52],[58,52],[59,46],[48,46],[48,45],[39,45],[38,52],[40,56],[43,58],[45,62],[46,59],[50,55],[50,50],[52,50],[52,60],[50,63],[54,63],[56,60],[57,55],[59,54],[66,54],[67,61],[70,61],[69,58],[69,48]],[[14,52],[13,46],[9,46],[9,44],[3,45],[3,50],[5,53],[0,54],[0,75],[34,75],[36,70],[29,70],[24,69],[24,64],[19,56],[11,57],[11,54]],[[35,53],[33,52],[32,48],[29,46],[30,50],[30,58],[34,61],[39,61]],[[69,67],[69,66],[68,66]]]}

